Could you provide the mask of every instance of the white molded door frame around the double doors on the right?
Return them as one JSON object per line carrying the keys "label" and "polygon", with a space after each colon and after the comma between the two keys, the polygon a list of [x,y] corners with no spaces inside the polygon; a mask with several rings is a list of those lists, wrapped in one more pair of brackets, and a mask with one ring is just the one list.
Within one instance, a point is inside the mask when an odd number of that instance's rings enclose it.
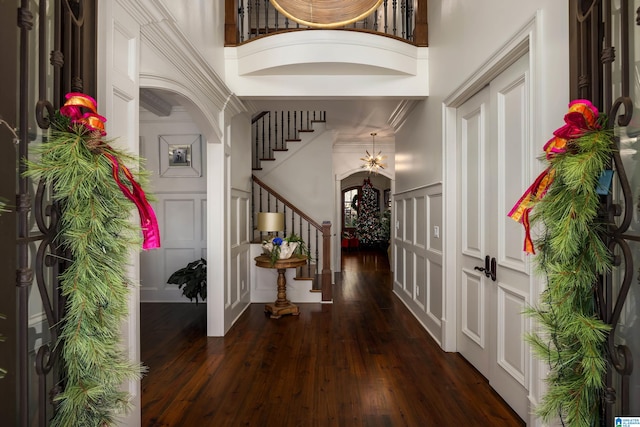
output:
{"label": "white molded door frame around the double doors on the right", "polygon": [[[531,76],[531,119],[533,123],[540,120],[541,108],[541,87],[542,70],[541,70],[541,52],[540,35],[542,33],[542,16],[537,11],[534,16],[497,52],[491,55],[488,60],[482,64],[465,82],[447,96],[443,103],[443,131],[442,131],[442,152],[443,152],[443,209],[444,212],[457,212],[458,200],[458,184],[460,171],[457,166],[457,129],[456,117],[457,110],[462,104],[470,99],[474,94],[480,91],[484,86],[488,85],[495,77],[515,63],[524,55],[529,56],[529,74]],[[542,141],[538,127],[534,126],[531,130],[532,141]],[[530,159],[530,180],[533,180],[539,173],[541,165],[537,160],[539,151],[538,144],[531,144],[529,152]],[[506,215],[506,212],[505,212]],[[456,334],[459,325],[457,324],[457,274],[459,270],[458,260],[458,218],[448,218],[443,215],[443,230],[446,239],[443,247],[443,282],[445,283],[444,293],[444,312],[446,322],[443,323],[442,331],[442,348],[445,351],[457,351]],[[534,278],[531,284],[530,295],[537,298],[542,290],[542,283],[539,279]],[[529,376],[529,403],[533,407],[537,404],[538,398],[544,390],[544,381],[540,372],[545,367],[539,361],[534,361],[533,356],[529,355],[530,373]],[[539,421],[533,415],[529,420],[525,420],[527,425],[538,425]]]}

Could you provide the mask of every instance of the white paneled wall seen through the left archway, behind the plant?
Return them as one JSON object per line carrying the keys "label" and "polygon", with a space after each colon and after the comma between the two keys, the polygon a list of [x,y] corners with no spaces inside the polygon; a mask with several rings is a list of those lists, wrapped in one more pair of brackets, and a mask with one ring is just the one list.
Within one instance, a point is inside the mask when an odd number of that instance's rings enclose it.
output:
{"label": "white paneled wall seen through the left archway, behind the plant", "polygon": [[[168,166],[167,142],[191,144],[198,139],[199,150],[193,147],[191,159],[197,164]],[[206,148],[207,141],[184,109],[174,108],[169,117],[140,114],[140,154],[151,174],[149,187],[156,198],[153,207],[162,238],[159,249],[140,254],[142,302],[188,302],[182,290],[167,279],[187,263],[207,259]]]}

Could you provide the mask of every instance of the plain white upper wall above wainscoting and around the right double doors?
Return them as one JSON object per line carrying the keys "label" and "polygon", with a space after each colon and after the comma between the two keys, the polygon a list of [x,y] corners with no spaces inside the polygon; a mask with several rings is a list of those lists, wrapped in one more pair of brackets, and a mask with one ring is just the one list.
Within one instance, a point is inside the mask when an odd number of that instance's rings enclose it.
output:
{"label": "plain white upper wall above wainscoting and around the right double doors", "polygon": [[[561,124],[568,104],[566,4],[553,0],[429,2],[430,96],[416,105],[396,133],[397,194],[443,181],[443,100],[530,22],[538,9],[542,31],[532,42],[539,44],[536,49],[544,72],[539,73],[535,88],[534,98],[540,104],[534,108],[539,111],[536,126],[543,137]],[[547,72],[551,68],[553,72]],[[545,141],[540,139],[540,149]],[[431,217],[434,214],[427,212]]]}

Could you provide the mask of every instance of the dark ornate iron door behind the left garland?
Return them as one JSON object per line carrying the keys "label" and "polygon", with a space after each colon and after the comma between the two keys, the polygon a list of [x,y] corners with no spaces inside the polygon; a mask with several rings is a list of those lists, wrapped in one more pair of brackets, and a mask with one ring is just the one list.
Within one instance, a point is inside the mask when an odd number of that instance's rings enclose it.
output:
{"label": "dark ornate iron door behind the left garland", "polygon": [[46,141],[49,119],[64,94],[95,92],[95,7],[95,2],[83,0],[21,0],[17,12],[17,419],[21,426],[48,425],[55,410],[52,399],[64,387],[55,343],[64,311],[57,277],[66,259],[56,240],[60,207],[51,202],[51,189],[23,176],[23,159],[29,159],[30,145]]}

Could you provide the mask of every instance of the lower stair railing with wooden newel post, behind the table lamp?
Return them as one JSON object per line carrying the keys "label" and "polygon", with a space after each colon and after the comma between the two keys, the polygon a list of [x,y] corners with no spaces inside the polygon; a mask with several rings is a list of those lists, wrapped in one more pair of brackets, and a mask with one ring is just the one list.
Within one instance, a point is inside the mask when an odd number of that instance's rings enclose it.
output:
{"label": "lower stair railing with wooden newel post, behind the table lamp", "polygon": [[331,301],[331,222],[317,223],[255,175],[251,193],[253,242],[262,242],[267,237],[257,231],[258,212],[282,212],[285,227],[278,235],[297,234],[309,249],[309,260],[299,269],[298,277],[313,280],[314,289],[322,291],[322,300]]}

